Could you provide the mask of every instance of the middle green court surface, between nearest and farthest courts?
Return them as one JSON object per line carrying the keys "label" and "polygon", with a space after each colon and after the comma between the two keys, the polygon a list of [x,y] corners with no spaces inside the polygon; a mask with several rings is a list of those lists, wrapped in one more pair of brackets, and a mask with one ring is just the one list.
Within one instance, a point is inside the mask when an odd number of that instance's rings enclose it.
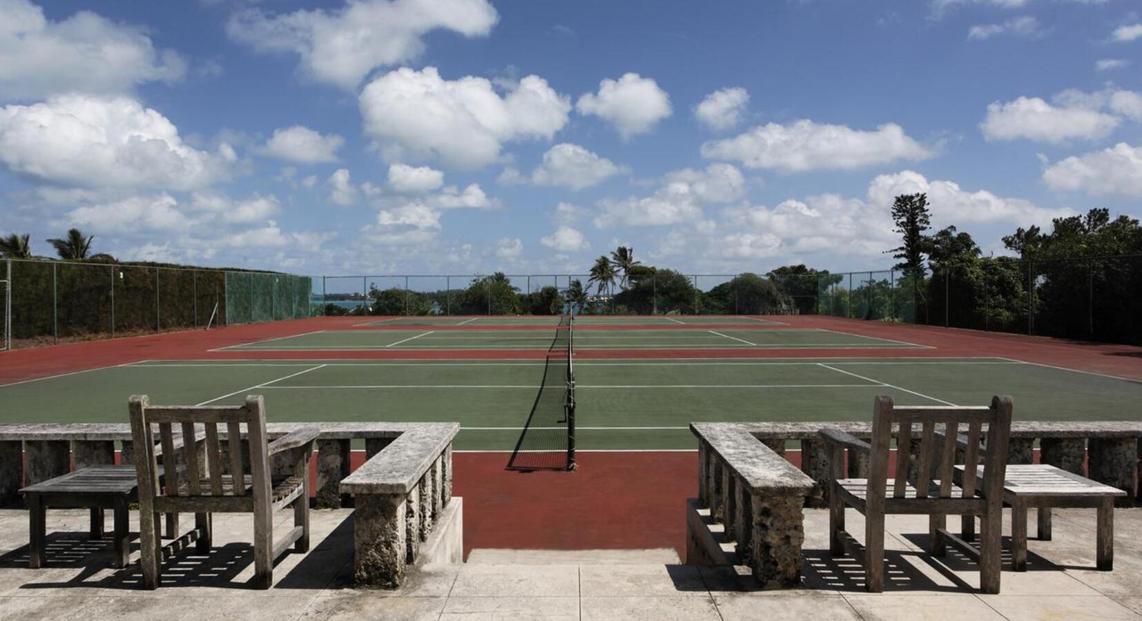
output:
{"label": "middle green court surface, between nearest and farthest courts", "polygon": [[[544,349],[553,339],[546,330],[323,330],[224,347],[219,350],[304,352],[369,349]],[[916,348],[898,340],[820,329],[766,330],[577,330],[576,349],[687,348]]]}

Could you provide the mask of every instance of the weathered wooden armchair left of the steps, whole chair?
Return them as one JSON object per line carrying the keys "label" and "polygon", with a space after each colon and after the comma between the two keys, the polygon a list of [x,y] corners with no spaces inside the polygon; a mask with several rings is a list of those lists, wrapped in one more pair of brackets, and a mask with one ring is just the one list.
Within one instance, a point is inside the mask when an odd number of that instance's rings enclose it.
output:
{"label": "weathered wooden armchair left of the steps, whole chair", "polygon": [[[290,546],[298,553],[309,548],[308,462],[315,427],[304,427],[274,442],[266,441],[265,404],[260,396],[246,397],[246,405],[152,406],[146,395],[130,398],[135,470],[138,476],[139,535],[142,539],[143,586],[159,586],[163,548],[159,539],[161,513],[193,513],[194,530],[176,542],[196,535],[199,551],[210,549],[210,514],[254,515],[254,586],[268,589],[273,562]],[[226,433],[224,458],[219,425]],[[184,438],[182,459],[174,447],[174,427]],[[246,442],[242,442],[243,429]],[[155,427],[160,439],[166,478],[160,485],[155,457]],[[243,454],[244,453],[244,454]],[[248,459],[247,459],[248,458]],[[271,470],[271,459],[282,475]],[[227,463],[228,461],[228,463]],[[249,474],[246,473],[249,463]],[[293,508],[293,529],[279,541],[273,539],[273,513]]]}

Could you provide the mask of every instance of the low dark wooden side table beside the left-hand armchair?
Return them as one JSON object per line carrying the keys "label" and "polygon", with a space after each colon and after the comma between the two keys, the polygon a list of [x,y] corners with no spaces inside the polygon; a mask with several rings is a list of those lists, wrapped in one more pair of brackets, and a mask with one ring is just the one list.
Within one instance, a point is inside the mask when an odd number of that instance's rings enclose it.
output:
{"label": "low dark wooden side table beside the left-hand armchair", "polygon": [[103,539],[103,510],[114,511],[112,565],[126,567],[130,556],[127,508],[137,486],[134,466],[90,466],[21,490],[31,521],[27,565],[33,570],[43,566],[49,507],[87,507],[91,509],[91,539]]}

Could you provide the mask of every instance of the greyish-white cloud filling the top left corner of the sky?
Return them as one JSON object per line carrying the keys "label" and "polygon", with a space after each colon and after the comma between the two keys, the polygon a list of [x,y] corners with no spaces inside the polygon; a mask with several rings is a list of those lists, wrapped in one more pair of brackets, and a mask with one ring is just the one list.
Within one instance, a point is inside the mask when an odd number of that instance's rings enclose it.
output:
{"label": "greyish-white cloud filling the top left corner of the sky", "polygon": [[51,22],[27,0],[0,0],[0,98],[58,92],[124,92],[144,82],[174,82],[186,62],[155,49],[145,29],[82,10]]}

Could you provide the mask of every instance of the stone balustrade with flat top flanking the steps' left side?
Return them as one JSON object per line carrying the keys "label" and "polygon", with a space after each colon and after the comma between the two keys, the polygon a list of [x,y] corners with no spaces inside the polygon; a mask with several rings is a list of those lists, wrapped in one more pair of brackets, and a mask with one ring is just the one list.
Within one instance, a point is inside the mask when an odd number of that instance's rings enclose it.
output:
{"label": "stone balustrade with flat top flanking the steps' left side", "polygon": [[410,564],[463,560],[460,499],[452,498],[457,422],[407,425],[343,479],[353,509],[353,575],[396,588]]}

